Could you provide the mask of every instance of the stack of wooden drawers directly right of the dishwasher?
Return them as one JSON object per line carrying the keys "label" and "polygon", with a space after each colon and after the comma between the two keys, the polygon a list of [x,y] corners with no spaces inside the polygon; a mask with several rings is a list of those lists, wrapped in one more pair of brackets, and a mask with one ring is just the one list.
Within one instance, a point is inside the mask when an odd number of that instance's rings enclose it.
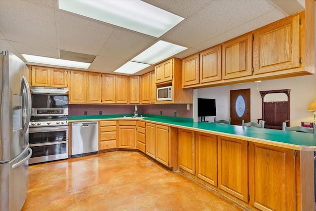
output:
{"label": "stack of wooden drawers directly right of the dishwasher", "polygon": [[117,148],[117,121],[100,121],[99,150]]}

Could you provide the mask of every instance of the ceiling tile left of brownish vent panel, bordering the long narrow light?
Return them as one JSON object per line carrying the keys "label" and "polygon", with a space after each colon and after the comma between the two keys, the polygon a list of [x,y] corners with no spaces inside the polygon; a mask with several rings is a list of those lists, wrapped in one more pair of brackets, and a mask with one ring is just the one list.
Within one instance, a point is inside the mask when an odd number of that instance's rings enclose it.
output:
{"label": "ceiling tile left of brownish vent panel, bordering the long narrow light", "polygon": [[42,47],[36,44],[26,44],[21,42],[11,42],[11,44],[17,51],[23,54],[59,58],[59,50],[57,48]]}

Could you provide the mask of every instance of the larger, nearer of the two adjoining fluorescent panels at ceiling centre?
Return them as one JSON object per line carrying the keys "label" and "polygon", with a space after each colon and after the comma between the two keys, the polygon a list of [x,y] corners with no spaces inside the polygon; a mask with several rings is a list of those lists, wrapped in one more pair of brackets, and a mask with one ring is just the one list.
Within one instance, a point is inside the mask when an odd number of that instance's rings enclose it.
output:
{"label": "larger, nearer of the two adjoining fluorescent panels at ceiling centre", "polygon": [[173,56],[185,49],[187,49],[187,47],[172,44],[170,42],[158,41],[151,47],[147,48],[139,55],[131,59],[131,61],[156,64],[157,62]]}

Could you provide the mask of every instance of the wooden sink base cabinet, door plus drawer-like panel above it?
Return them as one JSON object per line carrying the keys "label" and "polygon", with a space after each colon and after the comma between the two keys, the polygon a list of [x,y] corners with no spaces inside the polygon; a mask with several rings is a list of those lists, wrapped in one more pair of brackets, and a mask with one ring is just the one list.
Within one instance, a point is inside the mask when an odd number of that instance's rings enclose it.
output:
{"label": "wooden sink base cabinet, door plus drawer-like panel above it", "polygon": [[118,121],[118,148],[136,149],[136,120]]}

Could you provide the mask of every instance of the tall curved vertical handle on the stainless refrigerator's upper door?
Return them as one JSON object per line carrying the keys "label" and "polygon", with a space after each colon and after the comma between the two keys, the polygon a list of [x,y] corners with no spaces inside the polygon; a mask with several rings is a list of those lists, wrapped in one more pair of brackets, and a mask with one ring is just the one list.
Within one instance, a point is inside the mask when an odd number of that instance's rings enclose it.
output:
{"label": "tall curved vertical handle on the stainless refrigerator's upper door", "polygon": [[[21,80],[21,91],[20,91],[20,95],[23,98],[23,90],[25,89],[26,92],[26,118],[25,118],[25,123],[22,122],[23,125],[23,134],[26,134],[28,128],[29,128],[29,123],[30,123],[30,119],[31,119],[31,112],[32,112],[32,99],[31,99],[31,92],[30,92],[30,86],[28,84],[28,81],[26,80],[25,76],[22,77]],[[22,99],[23,100],[23,99]],[[22,102],[23,105],[23,102]],[[23,112],[23,111],[22,111]],[[23,115],[23,114],[22,114]],[[23,117],[22,117],[22,121],[24,121]]]}

